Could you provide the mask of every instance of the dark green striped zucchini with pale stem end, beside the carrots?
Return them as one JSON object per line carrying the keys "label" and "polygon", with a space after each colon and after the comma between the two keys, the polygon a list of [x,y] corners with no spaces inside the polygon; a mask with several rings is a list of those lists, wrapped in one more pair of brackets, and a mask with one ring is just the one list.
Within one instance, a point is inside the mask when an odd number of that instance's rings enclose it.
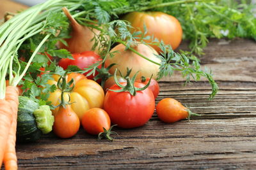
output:
{"label": "dark green striped zucchini with pale stem end, beside the carrots", "polygon": [[45,134],[52,130],[52,119],[54,118],[51,115],[49,106],[39,106],[33,99],[20,96],[17,117],[17,141],[37,141],[43,132]]}

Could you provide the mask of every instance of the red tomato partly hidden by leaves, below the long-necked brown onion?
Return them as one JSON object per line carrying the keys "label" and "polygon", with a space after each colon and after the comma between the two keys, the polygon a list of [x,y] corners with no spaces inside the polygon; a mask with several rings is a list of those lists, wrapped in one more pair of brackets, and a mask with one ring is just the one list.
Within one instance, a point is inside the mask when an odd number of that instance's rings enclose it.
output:
{"label": "red tomato partly hidden by leaves, below the long-necked brown onion", "polygon": [[[63,69],[67,69],[68,66],[74,65],[79,67],[80,69],[84,69],[88,66],[91,66],[92,64],[95,64],[96,62],[102,60],[100,59],[100,56],[97,55],[97,53],[92,52],[92,51],[86,51],[82,53],[72,53],[72,56],[74,60],[72,59],[61,59],[59,62],[59,66],[63,67]],[[101,65],[99,66],[99,68]],[[90,71],[89,71],[90,72]],[[84,73],[84,76],[86,76],[88,72]],[[94,76],[97,75],[97,72],[95,73]],[[88,79],[93,79],[93,75],[86,76]]]}

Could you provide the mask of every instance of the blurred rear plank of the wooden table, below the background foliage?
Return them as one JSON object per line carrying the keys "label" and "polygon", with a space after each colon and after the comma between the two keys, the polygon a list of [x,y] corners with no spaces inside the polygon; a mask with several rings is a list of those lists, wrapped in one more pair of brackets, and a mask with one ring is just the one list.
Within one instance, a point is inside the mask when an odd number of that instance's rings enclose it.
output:
{"label": "blurred rear plank of the wooden table, below the background foliage", "polygon": [[[256,81],[256,43],[250,39],[234,39],[227,44],[224,40],[211,39],[205,48],[201,63],[212,69],[214,80],[220,81]],[[180,46],[186,49],[186,43]],[[182,81],[180,74],[175,74],[166,81]],[[205,79],[202,79],[205,80]]]}

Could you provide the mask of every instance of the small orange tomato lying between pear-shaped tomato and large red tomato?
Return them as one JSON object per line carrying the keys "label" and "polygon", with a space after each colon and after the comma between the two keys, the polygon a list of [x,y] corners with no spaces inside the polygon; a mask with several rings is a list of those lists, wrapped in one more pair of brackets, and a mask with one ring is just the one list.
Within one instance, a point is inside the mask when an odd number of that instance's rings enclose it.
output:
{"label": "small orange tomato lying between pear-shaped tomato and large red tomato", "polygon": [[110,118],[106,111],[100,108],[92,108],[84,113],[82,125],[86,132],[96,135],[104,132],[103,127],[107,131],[109,130]]}

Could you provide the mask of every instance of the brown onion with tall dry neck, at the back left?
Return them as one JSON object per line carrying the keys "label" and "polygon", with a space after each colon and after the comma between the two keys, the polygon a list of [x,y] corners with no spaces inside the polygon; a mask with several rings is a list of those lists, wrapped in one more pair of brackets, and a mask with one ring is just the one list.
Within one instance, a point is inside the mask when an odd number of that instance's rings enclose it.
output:
{"label": "brown onion with tall dry neck, at the back left", "polygon": [[[68,46],[65,46],[63,43],[59,42],[59,47],[65,48],[71,53],[91,51],[95,43],[95,39],[93,38],[94,36],[97,38],[100,31],[78,24],[78,22],[70,15],[67,8],[64,7],[63,11],[71,22],[72,32],[70,33],[71,38],[65,39]],[[99,45],[95,47],[94,52],[99,52]]]}

